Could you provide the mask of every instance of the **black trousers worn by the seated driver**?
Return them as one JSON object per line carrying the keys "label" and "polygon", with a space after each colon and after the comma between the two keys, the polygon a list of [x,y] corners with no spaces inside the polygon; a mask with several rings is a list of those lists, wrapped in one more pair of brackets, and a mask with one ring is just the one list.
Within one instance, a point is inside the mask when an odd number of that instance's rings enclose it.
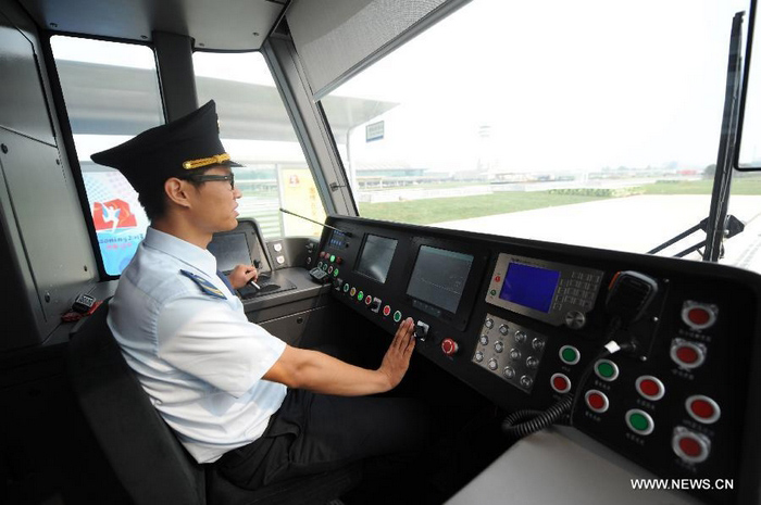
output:
{"label": "black trousers worn by the seated driver", "polygon": [[427,408],[411,399],[288,390],[263,435],[225,454],[217,468],[236,485],[258,489],[370,458],[372,478],[392,475],[403,489],[409,466],[427,450],[431,428]]}

